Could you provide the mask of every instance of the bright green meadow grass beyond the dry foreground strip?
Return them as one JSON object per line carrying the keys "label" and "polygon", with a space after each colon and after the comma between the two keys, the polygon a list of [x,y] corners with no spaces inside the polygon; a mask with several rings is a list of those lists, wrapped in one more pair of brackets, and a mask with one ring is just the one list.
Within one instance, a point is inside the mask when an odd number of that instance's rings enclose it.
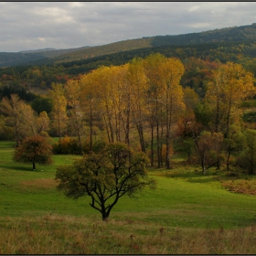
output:
{"label": "bright green meadow grass beyond the dry foreground strip", "polygon": [[[56,190],[56,166],[70,164],[77,156],[55,155],[54,165],[38,166],[12,162],[13,148],[1,143],[0,216],[101,215],[89,206],[89,198],[77,201]],[[171,227],[224,228],[246,226],[255,219],[255,197],[230,193],[215,179],[215,173],[202,176],[190,167],[171,171],[151,170],[157,188],[137,198],[123,197],[113,208],[111,219],[155,222]],[[43,171],[42,171],[43,170]]]}

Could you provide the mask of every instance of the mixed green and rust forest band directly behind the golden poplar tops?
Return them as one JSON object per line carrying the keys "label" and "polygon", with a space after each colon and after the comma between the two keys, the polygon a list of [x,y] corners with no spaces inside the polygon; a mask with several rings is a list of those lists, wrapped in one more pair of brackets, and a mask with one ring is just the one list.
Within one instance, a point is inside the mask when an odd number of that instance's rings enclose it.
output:
{"label": "mixed green and rust forest band directly behind the golden poplar tops", "polygon": [[[240,63],[245,69],[256,75],[256,43],[224,42],[193,46],[165,46],[134,49],[91,59],[76,60],[56,65],[30,65],[0,69],[2,87],[22,87],[27,91],[47,91],[52,82],[65,83],[69,79],[79,78],[100,66],[123,65],[133,58],[146,58],[151,53],[161,53],[168,58],[178,58],[185,66],[182,76],[183,87],[189,86],[204,96],[210,70],[219,63],[232,61]],[[6,89],[5,89],[6,90]],[[1,94],[0,90],[0,97]]]}

